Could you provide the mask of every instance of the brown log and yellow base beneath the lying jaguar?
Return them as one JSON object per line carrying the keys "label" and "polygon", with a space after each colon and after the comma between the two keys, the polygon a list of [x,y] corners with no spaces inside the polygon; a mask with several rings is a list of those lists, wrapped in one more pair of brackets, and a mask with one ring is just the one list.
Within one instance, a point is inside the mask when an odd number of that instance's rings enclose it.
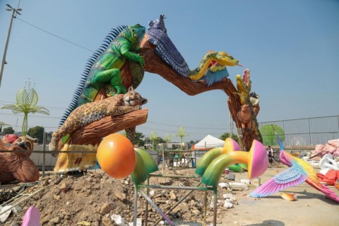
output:
{"label": "brown log and yellow base beneath the lying jaguar", "polygon": [[[100,100],[100,99],[99,99]],[[148,109],[140,109],[116,117],[107,116],[74,131],[66,145],[59,141],[57,163],[54,172],[83,170],[95,165],[97,147],[105,136],[124,129],[135,129],[147,120]],[[67,153],[62,153],[67,151]],[[73,152],[72,152],[73,151]],[[92,153],[77,153],[92,151]]]}

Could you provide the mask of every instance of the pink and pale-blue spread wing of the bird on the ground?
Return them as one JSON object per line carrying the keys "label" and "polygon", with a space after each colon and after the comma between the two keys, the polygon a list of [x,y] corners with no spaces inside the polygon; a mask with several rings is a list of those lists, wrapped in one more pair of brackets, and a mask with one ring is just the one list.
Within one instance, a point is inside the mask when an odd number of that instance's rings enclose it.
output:
{"label": "pink and pale-blue spread wing of the bird on the ground", "polygon": [[249,196],[256,198],[269,196],[279,190],[302,184],[306,179],[307,176],[299,172],[297,167],[291,167],[269,179],[268,182],[252,191]]}

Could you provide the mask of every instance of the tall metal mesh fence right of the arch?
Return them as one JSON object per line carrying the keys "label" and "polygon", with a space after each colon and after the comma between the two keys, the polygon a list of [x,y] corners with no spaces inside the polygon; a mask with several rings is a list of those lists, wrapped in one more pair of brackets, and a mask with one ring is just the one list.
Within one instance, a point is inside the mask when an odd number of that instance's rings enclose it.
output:
{"label": "tall metal mesh fence right of the arch", "polygon": [[265,121],[266,124],[280,126],[285,132],[285,147],[312,149],[317,144],[339,138],[339,115],[331,117],[314,117],[307,119],[291,119],[282,121]]}

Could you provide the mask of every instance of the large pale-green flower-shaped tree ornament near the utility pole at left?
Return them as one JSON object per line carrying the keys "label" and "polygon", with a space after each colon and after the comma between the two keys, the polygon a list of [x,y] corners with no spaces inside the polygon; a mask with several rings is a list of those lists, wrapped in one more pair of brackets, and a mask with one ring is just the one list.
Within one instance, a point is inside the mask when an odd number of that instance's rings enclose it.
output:
{"label": "large pale-green flower-shaped tree ornament near the utility pole at left", "polygon": [[34,85],[30,88],[30,80],[28,84],[25,82],[25,86],[18,90],[16,94],[16,104],[14,105],[4,105],[1,109],[10,109],[14,114],[23,113],[23,127],[21,129],[23,136],[27,134],[28,129],[28,114],[32,113],[41,113],[49,115],[49,110],[36,106],[39,97],[37,92],[34,89]]}

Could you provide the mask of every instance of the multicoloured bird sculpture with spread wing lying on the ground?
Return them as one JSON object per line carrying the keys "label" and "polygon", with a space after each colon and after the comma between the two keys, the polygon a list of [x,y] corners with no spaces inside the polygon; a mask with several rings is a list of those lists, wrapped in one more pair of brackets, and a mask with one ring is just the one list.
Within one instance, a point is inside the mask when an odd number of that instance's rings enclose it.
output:
{"label": "multicoloured bird sculpture with spread wing lying on the ground", "polygon": [[249,196],[256,198],[269,196],[276,191],[307,182],[307,184],[313,186],[315,189],[321,191],[323,194],[326,194],[326,196],[339,203],[339,197],[331,189],[329,189],[328,186],[320,184],[314,168],[306,161],[285,152],[283,142],[280,140],[278,133],[275,132],[275,136],[277,136],[278,143],[280,145],[280,162],[283,162],[283,164],[290,168],[269,179],[268,182],[251,192]]}

